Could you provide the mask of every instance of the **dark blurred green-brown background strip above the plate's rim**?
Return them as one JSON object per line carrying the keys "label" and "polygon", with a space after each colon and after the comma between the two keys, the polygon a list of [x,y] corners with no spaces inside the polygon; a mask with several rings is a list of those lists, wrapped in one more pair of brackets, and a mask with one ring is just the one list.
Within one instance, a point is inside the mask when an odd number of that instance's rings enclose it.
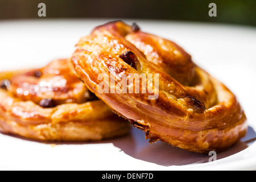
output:
{"label": "dark blurred green-brown background strip above the plate's rim", "polygon": [[[132,18],[256,26],[256,0],[0,0],[0,20],[39,18],[41,2],[46,4],[44,19]],[[208,15],[212,2],[217,17]]]}

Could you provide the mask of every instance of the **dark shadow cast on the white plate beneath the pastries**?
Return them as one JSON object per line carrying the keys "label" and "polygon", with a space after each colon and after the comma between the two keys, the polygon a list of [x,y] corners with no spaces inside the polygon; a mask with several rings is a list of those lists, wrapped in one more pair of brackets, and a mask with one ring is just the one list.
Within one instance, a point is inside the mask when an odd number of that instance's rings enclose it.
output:
{"label": "dark shadow cast on the white plate beneath the pastries", "polygon": [[[39,142],[36,140],[25,139],[22,137],[11,137],[28,140],[32,142]],[[249,127],[247,134],[239,142],[234,144],[228,150],[217,154],[217,159],[226,158],[230,155],[234,155],[256,140],[256,133],[252,127]],[[46,144],[101,144],[101,143],[113,143],[115,147],[118,147],[120,151],[125,154],[139,160],[143,160],[150,163],[155,163],[161,166],[182,166],[187,164],[207,163],[209,162],[208,154],[198,154],[195,152],[189,152],[182,150],[178,147],[172,147],[170,144],[163,142],[156,142],[153,144],[148,143],[145,139],[144,132],[138,129],[131,129],[131,133],[121,138],[103,140],[101,142],[39,142]]]}

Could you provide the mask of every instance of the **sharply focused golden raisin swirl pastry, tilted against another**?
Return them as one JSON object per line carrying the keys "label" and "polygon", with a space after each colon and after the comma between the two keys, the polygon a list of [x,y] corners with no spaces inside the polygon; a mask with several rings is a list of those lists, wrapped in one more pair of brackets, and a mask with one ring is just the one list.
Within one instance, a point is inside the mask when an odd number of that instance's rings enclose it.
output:
{"label": "sharply focused golden raisin swirl pastry, tilted against another", "polygon": [[[245,136],[246,116],[236,96],[174,42],[117,21],[96,27],[76,48],[72,62],[77,75],[117,114],[143,130],[150,143],[161,140],[209,152],[225,150]],[[131,75],[144,75],[154,94],[143,93],[141,82],[136,93]],[[105,78],[117,79],[102,84]],[[123,78],[127,88],[117,89]],[[118,92],[111,92],[113,88]]]}

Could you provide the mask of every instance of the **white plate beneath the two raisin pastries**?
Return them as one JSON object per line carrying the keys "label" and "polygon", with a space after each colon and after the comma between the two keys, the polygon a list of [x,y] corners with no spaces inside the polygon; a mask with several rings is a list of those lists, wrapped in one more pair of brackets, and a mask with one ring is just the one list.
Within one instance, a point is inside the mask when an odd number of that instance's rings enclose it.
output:
{"label": "white plate beneath the two raisin pastries", "polygon": [[[227,151],[210,156],[148,144],[133,129],[118,139],[94,143],[40,143],[0,134],[0,169],[22,170],[242,170],[256,169],[256,29],[186,22],[136,21],[143,31],[174,40],[195,63],[223,81],[245,109],[249,132]],[[106,19],[0,22],[0,71],[41,67],[71,56],[81,36]],[[247,141],[247,142],[246,142]]]}

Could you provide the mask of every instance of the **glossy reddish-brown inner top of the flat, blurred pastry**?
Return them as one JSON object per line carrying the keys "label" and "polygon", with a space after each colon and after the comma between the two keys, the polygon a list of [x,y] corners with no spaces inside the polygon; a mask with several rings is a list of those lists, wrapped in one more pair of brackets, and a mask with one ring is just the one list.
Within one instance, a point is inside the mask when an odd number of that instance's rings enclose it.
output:
{"label": "glossy reddish-brown inner top of the flat, blurred pastry", "polygon": [[35,69],[10,79],[10,91],[24,101],[39,104],[52,99],[56,105],[83,103],[89,90],[69,67],[69,60],[55,60],[42,69]]}

